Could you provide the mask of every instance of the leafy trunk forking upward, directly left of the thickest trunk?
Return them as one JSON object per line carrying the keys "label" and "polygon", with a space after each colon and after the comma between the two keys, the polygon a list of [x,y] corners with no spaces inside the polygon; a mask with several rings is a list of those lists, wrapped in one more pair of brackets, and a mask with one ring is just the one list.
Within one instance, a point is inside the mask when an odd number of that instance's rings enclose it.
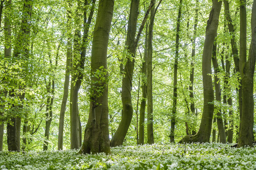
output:
{"label": "leafy trunk forking upward, directly left of the thickest trunk", "polygon": [[[88,10],[88,1],[85,1],[85,10],[84,10],[84,18],[83,18],[83,37],[82,37],[82,45],[79,47],[78,40],[80,39],[80,29],[77,28],[75,30],[75,39],[74,39],[74,58],[73,58],[73,70],[72,70],[72,78],[71,78],[71,149],[78,149],[79,148],[79,109],[78,109],[78,93],[81,87],[83,74],[82,70],[84,69],[85,65],[85,54],[87,49],[87,41],[88,41],[88,31],[91,25],[91,20],[94,13],[95,8],[95,0],[91,2],[91,10],[87,20],[87,10]],[[77,10],[80,10],[78,7]],[[77,19],[79,20],[79,12],[77,12]],[[79,25],[79,23],[77,23]],[[81,53],[80,53],[81,52]],[[79,56],[80,53],[80,57]]]}

